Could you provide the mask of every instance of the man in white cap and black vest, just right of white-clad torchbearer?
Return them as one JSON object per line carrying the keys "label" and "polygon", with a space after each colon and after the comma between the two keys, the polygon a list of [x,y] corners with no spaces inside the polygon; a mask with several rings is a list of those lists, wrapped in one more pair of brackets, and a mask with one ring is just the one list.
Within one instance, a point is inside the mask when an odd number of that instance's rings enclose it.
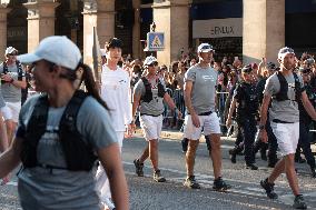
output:
{"label": "man in white cap and black vest, just right of white-clad torchbearer", "polygon": [[[154,180],[165,182],[166,179],[161,176],[158,168],[158,140],[162,128],[164,101],[178,114],[178,118],[181,118],[181,112],[178,111],[172,99],[167,93],[165,82],[157,76],[157,59],[152,56],[147,57],[144,61],[144,67],[146,70],[145,77],[141,77],[135,86],[132,116],[135,117],[139,107],[140,126],[148,144],[141,156],[134,160],[134,164],[137,176],[144,177],[144,162],[149,158],[154,168]],[[132,120],[132,124],[135,127],[135,120]]]}

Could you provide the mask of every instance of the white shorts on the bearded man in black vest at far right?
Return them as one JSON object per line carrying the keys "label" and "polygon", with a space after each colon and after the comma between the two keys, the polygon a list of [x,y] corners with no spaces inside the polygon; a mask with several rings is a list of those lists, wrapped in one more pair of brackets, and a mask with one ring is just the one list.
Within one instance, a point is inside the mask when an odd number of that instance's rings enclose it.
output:
{"label": "white shorts on the bearded man in black vest at far right", "polygon": [[283,156],[296,152],[299,138],[299,122],[276,123],[270,122],[273,132],[277,139],[279,151]]}

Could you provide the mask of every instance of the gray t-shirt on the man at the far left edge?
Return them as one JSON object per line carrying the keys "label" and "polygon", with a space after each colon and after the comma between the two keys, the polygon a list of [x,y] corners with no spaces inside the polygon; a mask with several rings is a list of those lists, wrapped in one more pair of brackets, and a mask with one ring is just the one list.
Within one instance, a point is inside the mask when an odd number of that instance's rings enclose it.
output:
{"label": "gray t-shirt on the man at the far left edge", "polygon": [[[0,73],[3,73],[3,63],[0,64]],[[8,66],[8,74],[13,80],[18,80],[18,67],[17,64]],[[22,73],[24,76],[24,72]],[[1,91],[6,102],[20,102],[21,101],[21,88],[17,88],[11,83],[1,83]]]}

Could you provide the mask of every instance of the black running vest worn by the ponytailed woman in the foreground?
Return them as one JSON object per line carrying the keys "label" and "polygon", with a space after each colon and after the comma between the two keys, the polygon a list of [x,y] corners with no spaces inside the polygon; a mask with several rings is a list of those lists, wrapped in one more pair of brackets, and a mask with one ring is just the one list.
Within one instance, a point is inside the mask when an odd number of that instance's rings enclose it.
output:
{"label": "black running vest worn by the ponytailed woman in the foreground", "polygon": [[67,168],[60,168],[38,163],[37,147],[40,138],[46,132],[49,109],[48,96],[40,96],[26,128],[24,140],[22,141],[20,158],[24,168],[39,166],[70,171],[90,171],[92,169],[97,157],[93,153],[92,147],[83,141],[83,137],[77,129],[77,114],[86,97],[86,92],[77,90],[68,102],[59,122],[59,141],[67,162]]}

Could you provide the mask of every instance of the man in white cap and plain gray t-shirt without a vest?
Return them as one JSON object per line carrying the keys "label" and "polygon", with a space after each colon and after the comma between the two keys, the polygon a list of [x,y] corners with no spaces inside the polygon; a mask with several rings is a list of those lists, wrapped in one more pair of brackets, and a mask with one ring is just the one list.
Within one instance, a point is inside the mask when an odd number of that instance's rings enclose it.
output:
{"label": "man in white cap and plain gray t-shirt without a vest", "polygon": [[221,179],[220,127],[216,113],[216,84],[217,71],[210,67],[214,49],[209,43],[198,47],[199,62],[185,74],[185,103],[187,116],[185,118],[185,138],[189,139],[186,152],[187,178],[184,186],[199,189],[200,186],[194,176],[196,150],[204,129],[204,134],[211,139],[209,156],[214,168],[214,190],[225,191],[230,188]]}

